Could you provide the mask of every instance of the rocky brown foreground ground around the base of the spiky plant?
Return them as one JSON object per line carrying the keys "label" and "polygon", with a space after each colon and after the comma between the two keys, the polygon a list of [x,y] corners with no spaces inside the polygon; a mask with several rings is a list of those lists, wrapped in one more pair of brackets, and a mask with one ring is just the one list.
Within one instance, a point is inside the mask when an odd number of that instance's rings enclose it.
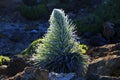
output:
{"label": "rocky brown foreground ground around the base of the spiky plant", "polygon": [[[87,53],[89,68],[86,77],[75,73],[54,73],[35,68],[29,58],[12,57],[0,67],[1,80],[120,80],[120,43],[91,47]],[[16,65],[19,64],[19,65]],[[6,76],[5,76],[6,75]]]}

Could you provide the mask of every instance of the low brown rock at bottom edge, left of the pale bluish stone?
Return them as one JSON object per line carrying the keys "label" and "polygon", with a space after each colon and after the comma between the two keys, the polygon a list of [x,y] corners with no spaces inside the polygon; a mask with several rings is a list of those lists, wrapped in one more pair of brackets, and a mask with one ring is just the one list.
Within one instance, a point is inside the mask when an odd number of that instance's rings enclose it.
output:
{"label": "low brown rock at bottom edge, left of the pale bluish stone", "polygon": [[49,72],[33,67],[26,67],[24,71],[6,80],[48,80]]}

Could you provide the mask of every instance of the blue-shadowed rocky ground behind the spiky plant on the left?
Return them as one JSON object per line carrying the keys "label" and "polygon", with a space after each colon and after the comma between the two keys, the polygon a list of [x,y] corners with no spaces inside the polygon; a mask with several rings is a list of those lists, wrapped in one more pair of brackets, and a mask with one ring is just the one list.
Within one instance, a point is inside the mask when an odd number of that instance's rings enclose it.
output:
{"label": "blue-shadowed rocky ground behind the spiky plant on the left", "polygon": [[28,21],[19,17],[15,17],[14,21],[14,13],[0,15],[0,55],[19,54],[32,41],[41,38],[49,26],[48,22]]}

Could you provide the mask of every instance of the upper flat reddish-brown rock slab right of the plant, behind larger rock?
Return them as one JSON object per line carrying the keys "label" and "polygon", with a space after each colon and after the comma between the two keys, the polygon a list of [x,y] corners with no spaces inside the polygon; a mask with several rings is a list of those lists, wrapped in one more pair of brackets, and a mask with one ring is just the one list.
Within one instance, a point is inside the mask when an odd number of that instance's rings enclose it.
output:
{"label": "upper flat reddish-brown rock slab right of the plant, behind larger rock", "polygon": [[92,59],[99,57],[105,57],[107,55],[120,55],[120,43],[116,44],[107,44],[104,46],[91,47],[87,50],[87,55]]}

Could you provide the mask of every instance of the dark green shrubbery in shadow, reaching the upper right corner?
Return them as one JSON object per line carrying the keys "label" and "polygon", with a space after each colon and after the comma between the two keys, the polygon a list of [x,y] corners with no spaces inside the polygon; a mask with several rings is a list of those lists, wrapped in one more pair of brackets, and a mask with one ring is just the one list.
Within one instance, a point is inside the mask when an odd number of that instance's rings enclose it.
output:
{"label": "dark green shrubbery in shadow, reaching the upper right corner", "polygon": [[105,0],[95,11],[81,19],[74,20],[78,34],[81,32],[102,33],[105,22],[120,22],[120,1]]}

